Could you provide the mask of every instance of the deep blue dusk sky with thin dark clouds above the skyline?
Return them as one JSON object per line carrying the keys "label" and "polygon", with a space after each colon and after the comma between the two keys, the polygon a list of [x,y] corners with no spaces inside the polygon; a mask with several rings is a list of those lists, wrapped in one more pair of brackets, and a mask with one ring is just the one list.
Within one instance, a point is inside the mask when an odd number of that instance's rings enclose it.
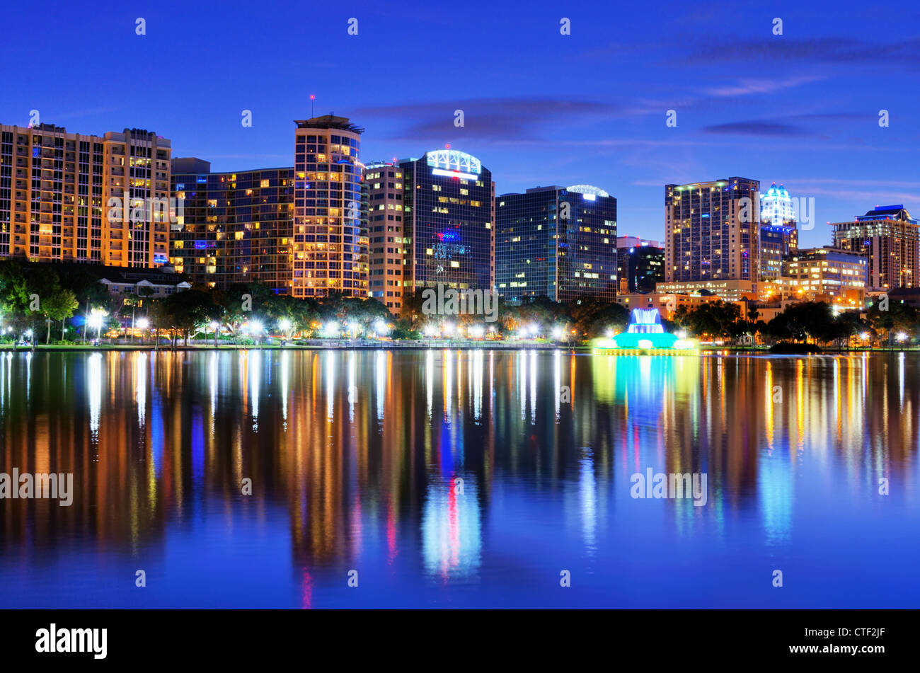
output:
{"label": "deep blue dusk sky with thin dark clouds above the skyline", "polygon": [[451,143],[492,171],[497,194],[606,189],[621,235],[661,239],[663,186],[719,177],[813,197],[820,223],[802,246],[876,204],[920,212],[916,6],[514,5],[42,3],[53,20],[23,6],[0,46],[0,121],[27,126],[38,109],[68,131],[145,128],[174,157],[243,170],[293,165],[293,120],[314,94],[316,115],[366,129],[365,162]]}

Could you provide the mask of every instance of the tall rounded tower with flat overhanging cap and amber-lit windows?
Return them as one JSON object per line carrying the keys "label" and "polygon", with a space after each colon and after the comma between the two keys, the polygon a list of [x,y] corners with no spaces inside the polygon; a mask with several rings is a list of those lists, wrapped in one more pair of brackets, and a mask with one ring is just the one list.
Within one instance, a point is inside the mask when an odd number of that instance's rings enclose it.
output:
{"label": "tall rounded tower with flat overhanging cap and amber-lit windows", "polygon": [[293,286],[295,297],[368,296],[362,212],[362,128],[345,117],[296,120]]}

